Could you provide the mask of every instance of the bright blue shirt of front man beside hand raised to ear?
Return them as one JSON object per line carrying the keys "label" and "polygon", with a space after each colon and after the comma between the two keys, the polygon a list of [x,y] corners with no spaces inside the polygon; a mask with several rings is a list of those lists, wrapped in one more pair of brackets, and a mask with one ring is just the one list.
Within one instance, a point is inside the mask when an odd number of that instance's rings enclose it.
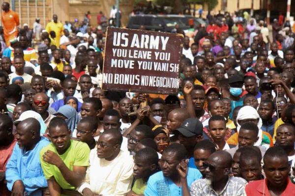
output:
{"label": "bright blue shirt of front man beside hand raised to ear", "polygon": [[[187,185],[202,178],[201,172],[194,168],[188,168]],[[182,188],[178,187],[170,178],[165,177],[163,172],[157,172],[148,178],[145,196],[182,196]]]}

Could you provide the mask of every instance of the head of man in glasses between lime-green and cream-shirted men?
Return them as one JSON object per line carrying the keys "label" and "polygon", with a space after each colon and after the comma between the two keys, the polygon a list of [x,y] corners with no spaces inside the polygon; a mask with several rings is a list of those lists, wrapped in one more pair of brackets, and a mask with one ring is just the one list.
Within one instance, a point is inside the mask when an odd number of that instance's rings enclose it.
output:
{"label": "head of man in glasses between lime-green and cream-shirted men", "polygon": [[97,122],[96,118],[85,117],[77,125],[77,140],[85,142],[90,149],[96,145],[93,135],[96,133]]}

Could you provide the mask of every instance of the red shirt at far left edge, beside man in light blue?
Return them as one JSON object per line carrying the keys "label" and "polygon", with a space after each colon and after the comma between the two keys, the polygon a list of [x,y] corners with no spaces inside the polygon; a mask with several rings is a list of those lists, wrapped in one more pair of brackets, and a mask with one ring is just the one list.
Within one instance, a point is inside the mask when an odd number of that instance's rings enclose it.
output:
{"label": "red shirt at far left edge, beside man in light blue", "polygon": [[[6,171],[6,164],[9,161],[9,158],[12,154],[13,147],[16,144],[16,139],[6,147],[0,147],[0,172]],[[0,183],[0,196],[10,196],[11,193],[7,189],[7,184],[4,182]]]}

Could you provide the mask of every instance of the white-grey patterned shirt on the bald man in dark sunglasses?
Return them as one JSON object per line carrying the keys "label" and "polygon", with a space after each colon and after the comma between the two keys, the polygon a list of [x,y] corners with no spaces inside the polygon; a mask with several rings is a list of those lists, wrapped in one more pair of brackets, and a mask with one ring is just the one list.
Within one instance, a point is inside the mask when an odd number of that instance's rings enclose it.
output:
{"label": "white-grey patterned shirt on the bald man in dark sunglasses", "polygon": [[223,190],[218,194],[206,179],[200,179],[192,183],[190,187],[191,196],[246,196],[245,185],[247,181],[240,177],[229,177]]}

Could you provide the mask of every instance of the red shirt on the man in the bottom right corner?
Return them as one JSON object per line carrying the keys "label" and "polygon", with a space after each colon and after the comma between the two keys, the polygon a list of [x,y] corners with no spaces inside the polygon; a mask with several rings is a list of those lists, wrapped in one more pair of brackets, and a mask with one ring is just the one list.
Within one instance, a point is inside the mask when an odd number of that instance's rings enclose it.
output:
{"label": "red shirt on the man in the bottom right corner", "polygon": [[[294,190],[295,184],[288,178],[287,187],[280,196],[294,196]],[[249,182],[246,185],[245,192],[247,196],[270,196],[267,188],[267,179]]]}

